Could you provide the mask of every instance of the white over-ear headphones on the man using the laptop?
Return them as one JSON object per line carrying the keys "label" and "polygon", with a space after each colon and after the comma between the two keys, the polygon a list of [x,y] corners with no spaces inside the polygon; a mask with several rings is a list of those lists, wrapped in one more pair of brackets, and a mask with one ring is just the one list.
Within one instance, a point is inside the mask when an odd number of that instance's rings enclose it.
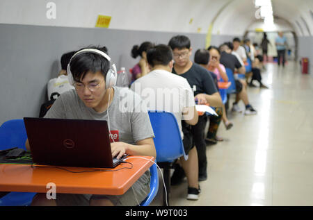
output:
{"label": "white over-ear headphones on the man using the laptop", "polygon": [[[73,78],[73,75],[71,72],[70,63],[71,63],[72,59],[74,58],[74,56],[77,56],[78,54],[81,54],[81,53],[97,53],[97,54],[103,56],[104,58],[106,58],[106,60],[109,60],[109,62],[111,60],[111,58],[106,53],[104,53],[103,51],[99,51],[97,49],[91,49],[91,48],[82,49],[82,50],[78,51],[77,53],[74,53],[70,62],[67,65],[67,78],[68,78],[68,82],[70,83],[70,85],[74,85],[74,78]],[[116,71],[115,64],[113,63],[112,69],[110,68],[109,71],[106,73],[106,89],[109,89],[109,88],[115,86],[117,74],[118,74],[118,72]]]}

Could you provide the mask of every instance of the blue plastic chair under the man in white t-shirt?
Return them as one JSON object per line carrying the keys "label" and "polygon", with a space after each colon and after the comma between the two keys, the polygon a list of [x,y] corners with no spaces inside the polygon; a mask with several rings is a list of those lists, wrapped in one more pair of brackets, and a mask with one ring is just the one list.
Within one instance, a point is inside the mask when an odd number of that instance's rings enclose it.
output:
{"label": "blue plastic chair under the man in white t-shirt", "polygon": [[157,164],[163,168],[163,177],[167,194],[163,193],[163,205],[169,205],[170,194],[170,169],[173,162],[188,155],[184,151],[184,144],[180,136],[179,126],[175,116],[171,112],[149,111],[150,122],[154,131],[154,146],[157,151]]}

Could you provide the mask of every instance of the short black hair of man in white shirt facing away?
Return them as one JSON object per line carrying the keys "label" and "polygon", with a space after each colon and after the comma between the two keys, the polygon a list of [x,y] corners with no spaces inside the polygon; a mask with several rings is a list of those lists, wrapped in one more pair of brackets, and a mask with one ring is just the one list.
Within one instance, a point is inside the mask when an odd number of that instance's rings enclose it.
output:
{"label": "short black hair of man in white shirt facing away", "polygon": [[147,50],[147,62],[154,67],[155,65],[166,66],[172,60],[172,49],[165,44],[159,44]]}

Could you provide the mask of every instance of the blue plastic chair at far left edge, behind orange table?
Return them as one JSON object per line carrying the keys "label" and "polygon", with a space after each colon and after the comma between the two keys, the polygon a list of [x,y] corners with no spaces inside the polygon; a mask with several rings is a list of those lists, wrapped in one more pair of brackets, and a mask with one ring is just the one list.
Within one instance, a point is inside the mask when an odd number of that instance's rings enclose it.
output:
{"label": "blue plastic chair at far left edge, behind orange table", "polygon": [[[13,119],[1,125],[0,150],[10,149],[15,146],[26,150],[26,139],[27,135],[23,119]],[[10,192],[0,198],[0,205],[30,205],[33,196],[35,196],[33,192]]]}

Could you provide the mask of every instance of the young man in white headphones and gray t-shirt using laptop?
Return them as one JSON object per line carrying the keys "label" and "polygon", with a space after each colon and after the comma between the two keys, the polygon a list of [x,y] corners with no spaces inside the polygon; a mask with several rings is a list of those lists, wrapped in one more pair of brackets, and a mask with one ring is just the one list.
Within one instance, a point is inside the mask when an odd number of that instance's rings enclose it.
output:
{"label": "young man in white headphones and gray t-shirt using laptop", "polygon": [[[141,97],[128,88],[115,87],[116,68],[105,49],[81,49],[67,67],[69,81],[75,90],[59,96],[45,117],[59,119],[106,120],[111,135],[112,157],[123,154],[156,157],[149,115]],[[133,102],[125,102],[133,100]],[[128,110],[120,109],[121,101]],[[125,106],[124,106],[125,107]],[[28,142],[26,147],[29,148]],[[88,152],[86,152],[88,156]],[[150,173],[145,172],[121,196],[57,194],[48,200],[37,194],[32,205],[138,205],[150,192]],[[134,194],[136,193],[136,194]]]}

